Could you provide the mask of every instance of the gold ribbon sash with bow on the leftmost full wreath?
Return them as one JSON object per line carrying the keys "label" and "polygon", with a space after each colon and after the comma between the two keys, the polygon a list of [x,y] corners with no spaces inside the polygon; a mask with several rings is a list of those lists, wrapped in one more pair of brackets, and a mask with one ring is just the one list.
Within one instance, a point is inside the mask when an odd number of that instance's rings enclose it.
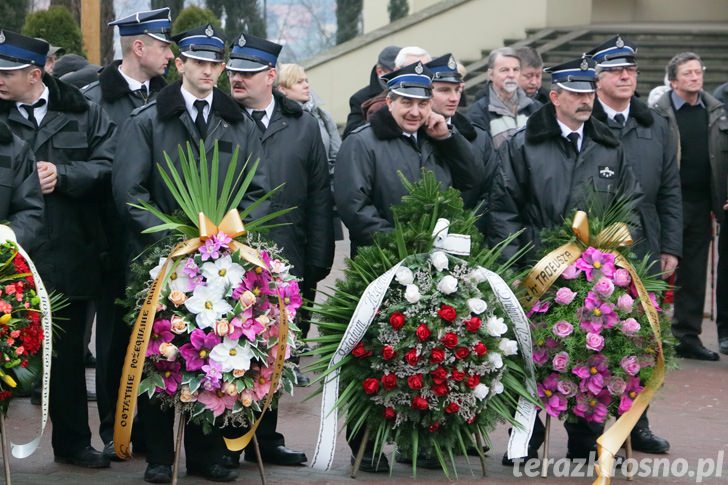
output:
{"label": "gold ribbon sash with bow on the leftmost full wreath", "polygon": [[[157,278],[155,278],[154,282],[150,286],[147,297],[144,300],[144,304],[142,305],[136,322],[134,323],[134,328],[129,340],[129,346],[126,350],[126,357],[124,358],[124,370],[121,374],[121,382],[119,384],[119,398],[116,402],[114,450],[120,458],[129,459],[132,457],[129,444],[131,442],[131,430],[134,421],[134,414],[136,412],[136,398],[139,390],[139,383],[141,382],[142,371],[144,369],[149,337],[151,335],[154,318],[157,313],[159,295],[162,292],[162,288],[167,279],[167,274],[171,268],[172,262],[181,256],[185,256],[196,251],[207,239],[219,232],[223,232],[233,239],[246,233],[237,209],[231,209],[227,214],[225,214],[225,217],[222,219],[219,226],[216,226],[203,213],[200,213],[199,228],[200,237],[182,241],[172,248],[172,251],[170,251],[169,256],[162,265]],[[237,251],[240,254],[240,257],[249,263],[268,269],[255,249],[244,244],[237,243],[234,240],[230,243],[229,247],[231,251]],[[288,320],[285,316],[285,308],[282,305],[283,303],[279,302],[279,306],[281,306],[282,310],[281,327],[278,333],[279,355],[277,357],[280,358],[280,341],[283,340],[282,355],[283,360],[285,360],[285,345],[288,340]],[[276,359],[275,372],[278,370],[278,358]],[[281,364],[281,371],[282,368],[283,365]],[[272,380],[276,382],[280,381],[280,374],[274,374]],[[272,385],[271,389],[273,389]],[[271,399],[272,397],[269,396],[266,400],[265,408],[268,407]],[[263,413],[261,413],[260,417],[263,416],[264,412],[265,409]],[[258,421],[260,421],[260,417],[258,418]],[[257,427],[257,425],[258,422],[255,423],[255,427]]]}

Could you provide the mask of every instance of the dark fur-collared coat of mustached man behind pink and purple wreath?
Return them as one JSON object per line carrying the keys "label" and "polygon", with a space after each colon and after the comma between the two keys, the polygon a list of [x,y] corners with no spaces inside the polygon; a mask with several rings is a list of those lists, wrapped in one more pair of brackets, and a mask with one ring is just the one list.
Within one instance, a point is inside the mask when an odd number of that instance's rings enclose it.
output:
{"label": "dark fur-collared coat of mustached man behind pink and purple wreath", "polygon": [[[574,209],[588,210],[587,199],[602,206],[620,194],[639,204],[641,189],[609,128],[591,118],[584,124],[584,140],[576,155],[561,135],[553,105],[534,113],[499,151],[500,170],[491,194],[488,242],[501,242],[525,228],[505,251],[512,256],[528,242],[540,253],[542,229],[563,223]],[[639,231],[633,234],[640,237]]]}

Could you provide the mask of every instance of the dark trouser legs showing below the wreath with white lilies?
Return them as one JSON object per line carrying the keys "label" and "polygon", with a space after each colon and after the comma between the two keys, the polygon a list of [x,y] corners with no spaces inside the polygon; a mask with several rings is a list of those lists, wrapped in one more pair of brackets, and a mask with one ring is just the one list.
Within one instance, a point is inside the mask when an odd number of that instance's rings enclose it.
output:
{"label": "dark trouser legs showing below the wreath with white lilies", "polygon": [[[174,462],[174,417],[174,409],[162,409],[155,400],[149,402],[143,421],[147,463],[172,465]],[[220,430],[217,428],[205,434],[201,426],[188,423],[185,425],[184,441],[188,465],[219,464],[225,451]]]}

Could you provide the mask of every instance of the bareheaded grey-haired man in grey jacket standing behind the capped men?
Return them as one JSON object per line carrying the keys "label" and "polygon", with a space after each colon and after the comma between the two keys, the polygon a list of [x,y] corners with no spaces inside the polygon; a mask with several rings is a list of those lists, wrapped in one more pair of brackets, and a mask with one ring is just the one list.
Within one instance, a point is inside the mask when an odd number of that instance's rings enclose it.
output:
{"label": "bareheaded grey-haired man in grey jacket standing behind the capped men", "polygon": [[490,80],[485,93],[468,110],[470,121],[490,135],[496,148],[541,107],[518,86],[520,75],[521,59],[516,51],[511,47],[495,49],[488,56]]}

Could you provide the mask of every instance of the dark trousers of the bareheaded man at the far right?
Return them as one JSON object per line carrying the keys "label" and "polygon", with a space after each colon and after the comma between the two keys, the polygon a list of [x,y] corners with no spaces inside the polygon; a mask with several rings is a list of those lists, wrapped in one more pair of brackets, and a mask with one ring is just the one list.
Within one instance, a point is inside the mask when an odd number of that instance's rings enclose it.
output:
{"label": "dark trousers of the bareheaded man at the far right", "polygon": [[672,333],[680,341],[700,341],[710,240],[710,201],[683,200],[683,257],[676,271],[672,320]]}

